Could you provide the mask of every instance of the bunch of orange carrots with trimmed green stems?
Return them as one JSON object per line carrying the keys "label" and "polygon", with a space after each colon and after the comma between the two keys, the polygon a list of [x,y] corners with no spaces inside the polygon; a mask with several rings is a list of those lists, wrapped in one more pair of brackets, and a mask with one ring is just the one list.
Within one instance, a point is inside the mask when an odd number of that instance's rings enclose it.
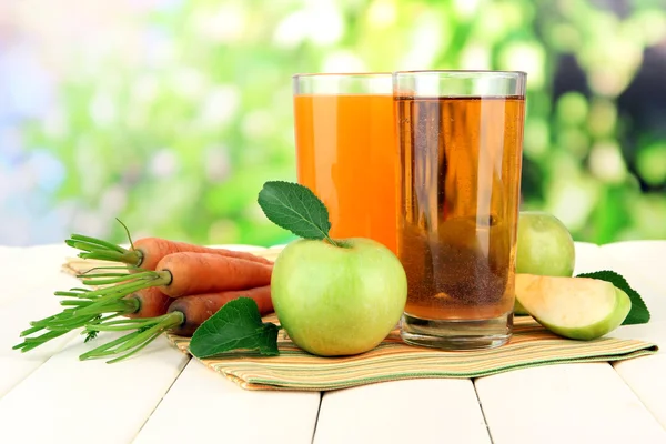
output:
{"label": "bunch of orange carrots with trimmed green stems", "polygon": [[262,315],[273,311],[272,261],[249,252],[160,238],[132,242],[129,231],[128,238],[130,249],[80,234],[67,240],[68,245],[81,251],[80,258],[119,265],[93,268],[79,275],[84,285],[95,289],[56,292],[70,297],[61,301],[67,307],[32,322],[21,336],[46,333],[27,337],[14,349],[26,352],[81,327],[87,341],[103,331],[132,331],[80,356],[87,360],[119,355],[109,361],[117,362],[164,332],[191,336],[225,303],[241,296],[253,299]]}

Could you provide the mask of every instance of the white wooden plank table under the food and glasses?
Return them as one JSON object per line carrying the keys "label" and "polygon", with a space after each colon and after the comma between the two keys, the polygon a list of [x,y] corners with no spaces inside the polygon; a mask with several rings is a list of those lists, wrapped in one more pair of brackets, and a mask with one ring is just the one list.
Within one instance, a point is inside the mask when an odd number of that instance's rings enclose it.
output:
{"label": "white wooden plank table under the food and glasses", "polygon": [[[656,342],[633,361],[518,370],[476,380],[390,382],[327,393],[248,392],[160,337],[117,364],[78,361],[78,333],[21,354],[32,320],[60,310],[64,245],[0,246],[0,443],[666,443],[666,241],[578,243],[576,273],[615,270]],[[42,350],[40,350],[42,349]]]}

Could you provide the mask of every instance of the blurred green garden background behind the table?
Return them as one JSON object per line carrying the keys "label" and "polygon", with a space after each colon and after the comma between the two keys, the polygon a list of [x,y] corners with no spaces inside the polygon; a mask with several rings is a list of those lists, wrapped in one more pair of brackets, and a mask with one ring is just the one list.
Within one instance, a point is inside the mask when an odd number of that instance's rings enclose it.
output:
{"label": "blurred green garden background behind the table", "polygon": [[664,1],[10,0],[0,244],[71,232],[270,245],[296,72],[528,73],[523,209],[577,241],[666,239]]}

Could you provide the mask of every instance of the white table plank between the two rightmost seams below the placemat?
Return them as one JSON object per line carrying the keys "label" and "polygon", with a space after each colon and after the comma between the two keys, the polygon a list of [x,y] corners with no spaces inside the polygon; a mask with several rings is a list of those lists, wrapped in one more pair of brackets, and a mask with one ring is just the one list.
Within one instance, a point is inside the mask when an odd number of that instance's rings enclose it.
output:
{"label": "white table plank between the two rightmost seams below the placemat", "polygon": [[475,381],[494,444],[666,443],[607,363],[524,369]]}

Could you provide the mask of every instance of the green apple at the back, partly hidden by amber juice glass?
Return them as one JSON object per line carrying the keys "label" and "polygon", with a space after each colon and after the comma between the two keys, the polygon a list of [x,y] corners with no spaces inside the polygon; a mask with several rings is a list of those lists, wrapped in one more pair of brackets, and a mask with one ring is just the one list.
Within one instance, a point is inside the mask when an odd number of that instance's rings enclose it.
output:
{"label": "green apple at the back, partly hidden by amber juice glass", "polygon": [[559,219],[542,211],[521,212],[516,273],[571,278],[575,262],[574,240]]}

